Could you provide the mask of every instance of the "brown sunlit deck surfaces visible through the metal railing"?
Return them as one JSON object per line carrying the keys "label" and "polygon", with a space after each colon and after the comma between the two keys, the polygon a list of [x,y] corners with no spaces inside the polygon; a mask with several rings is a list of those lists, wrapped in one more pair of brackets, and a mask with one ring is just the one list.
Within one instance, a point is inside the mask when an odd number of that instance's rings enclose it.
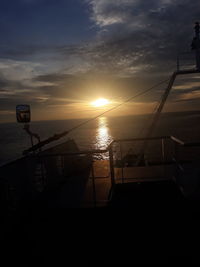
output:
{"label": "brown sunlit deck surfaces visible through the metal railing", "polygon": [[[111,194],[111,177],[109,161],[99,160],[94,162],[95,198],[96,205],[105,207],[109,203]],[[173,179],[173,166],[149,166],[149,167],[125,167],[115,168],[115,188],[123,187],[123,184],[138,184],[144,182],[169,181]],[[123,173],[122,173],[123,172]],[[90,174],[82,201],[82,207],[94,207],[94,184]],[[133,187],[130,186],[130,191]],[[134,192],[133,192],[134,194]]]}

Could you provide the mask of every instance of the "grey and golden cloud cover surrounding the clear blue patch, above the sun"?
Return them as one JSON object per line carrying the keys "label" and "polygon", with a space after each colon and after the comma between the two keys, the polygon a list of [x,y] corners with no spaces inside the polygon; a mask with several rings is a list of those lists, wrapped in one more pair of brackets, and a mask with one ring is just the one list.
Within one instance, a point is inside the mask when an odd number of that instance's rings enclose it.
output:
{"label": "grey and golden cloud cover surrounding the clear blue patch, above the sun", "polygon": [[[195,0],[83,1],[96,29],[87,43],[0,47],[1,110],[29,102],[73,112],[76,103],[101,96],[123,101],[174,71],[177,53],[190,50],[200,14]],[[186,85],[176,84],[174,101],[195,99],[198,78],[181,82]],[[136,103],[153,103],[165,88]]]}

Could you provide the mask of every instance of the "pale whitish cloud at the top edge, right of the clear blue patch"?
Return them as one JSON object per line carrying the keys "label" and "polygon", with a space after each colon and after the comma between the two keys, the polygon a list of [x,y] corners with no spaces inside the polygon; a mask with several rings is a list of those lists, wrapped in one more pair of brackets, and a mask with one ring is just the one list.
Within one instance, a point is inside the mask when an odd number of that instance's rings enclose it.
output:
{"label": "pale whitish cloud at the top edge, right of the clear blue patch", "polygon": [[165,9],[172,1],[165,0],[88,0],[92,20],[99,26],[131,23],[130,27],[146,26],[148,14]]}

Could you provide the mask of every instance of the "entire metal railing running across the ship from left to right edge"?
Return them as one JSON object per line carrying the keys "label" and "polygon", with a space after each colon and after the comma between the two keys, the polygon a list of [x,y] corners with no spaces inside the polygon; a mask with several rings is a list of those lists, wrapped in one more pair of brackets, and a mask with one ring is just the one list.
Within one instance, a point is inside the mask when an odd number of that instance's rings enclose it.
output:
{"label": "entire metal railing running across the ship from left to right edge", "polygon": [[[144,141],[148,141],[147,149],[144,152],[141,164],[135,166],[134,155],[141,152],[140,145],[138,144]],[[21,199],[20,203],[24,203],[27,197],[34,199],[35,192],[37,192],[36,195],[42,194],[47,188],[55,189],[57,185],[58,187],[59,185],[63,186],[66,182],[69,182],[69,184],[70,182],[73,183],[73,181],[77,182],[77,184],[73,184],[74,188],[78,186],[78,183],[82,182],[82,189],[86,190],[87,185],[84,181],[89,181],[89,191],[87,193],[92,194],[90,206],[97,207],[109,201],[108,195],[110,197],[112,196],[112,189],[116,183],[132,182],[138,178],[144,178],[141,177],[140,173],[142,169],[152,168],[152,178],[155,179],[157,177],[154,175],[153,170],[157,166],[162,168],[163,176],[166,176],[166,171],[170,165],[176,166],[176,170],[179,167],[179,170],[181,169],[183,171],[183,162],[191,162],[195,158],[200,158],[199,147],[200,142],[185,143],[173,136],[118,139],[113,140],[104,150],[49,155],[38,154],[24,157],[1,167],[0,178],[1,182],[5,182],[7,199],[9,199],[10,195],[12,195],[12,198],[16,196],[18,199]],[[194,149],[198,149],[195,157],[193,152],[188,152],[190,148],[193,151]],[[185,155],[181,149],[186,150]],[[132,153],[132,158],[127,160],[126,156],[128,153],[131,154],[130,152]],[[102,174],[102,171],[97,173],[98,169],[102,170],[102,168],[96,165],[100,161],[96,160],[95,155],[105,153],[108,154],[108,160],[106,160],[107,173]],[[138,170],[137,177],[126,177],[127,172],[131,169],[132,173]],[[37,175],[36,170],[38,171]],[[84,173],[84,171],[86,172]],[[81,178],[84,174],[88,175],[85,180]],[[77,180],[74,177],[78,177]],[[37,185],[35,179],[40,180],[40,186]],[[102,179],[106,180],[103,181]],[[104,194],[106,196],[105,199],[102,199],[102,195],[99,199],[100,180],[103,181],[102,183],[107,183],[109,187],[110,193]],[[14,191],[15,194],[13,193]]]}

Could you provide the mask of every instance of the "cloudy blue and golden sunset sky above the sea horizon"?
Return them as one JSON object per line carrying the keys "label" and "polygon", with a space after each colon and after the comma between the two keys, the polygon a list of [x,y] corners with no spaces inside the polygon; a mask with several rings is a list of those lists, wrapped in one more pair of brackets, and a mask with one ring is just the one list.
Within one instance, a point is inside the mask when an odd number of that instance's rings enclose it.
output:
{"label": "cloudy blue and golden sunset sky above the sea horizon", "polygon": [[[165,80],[199,14],[197,0],[0,0],[0,122],[17,104],[33,120],[93,117]],[[198,110],[199,79],[178,78],[165,111]],[[111,115],[153,112],[166,86]]]}

